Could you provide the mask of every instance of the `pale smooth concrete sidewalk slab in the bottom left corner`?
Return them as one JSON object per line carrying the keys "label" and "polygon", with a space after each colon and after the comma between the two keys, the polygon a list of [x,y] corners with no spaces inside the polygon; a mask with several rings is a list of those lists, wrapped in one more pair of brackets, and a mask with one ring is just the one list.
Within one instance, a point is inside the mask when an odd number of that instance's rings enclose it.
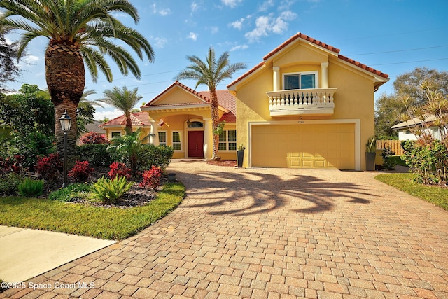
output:
{"label": "pale smooth concrete sidewalk slab in the bottom left corner", "polygon": [[0,279],[22,282],[115,241],[0,225]]}

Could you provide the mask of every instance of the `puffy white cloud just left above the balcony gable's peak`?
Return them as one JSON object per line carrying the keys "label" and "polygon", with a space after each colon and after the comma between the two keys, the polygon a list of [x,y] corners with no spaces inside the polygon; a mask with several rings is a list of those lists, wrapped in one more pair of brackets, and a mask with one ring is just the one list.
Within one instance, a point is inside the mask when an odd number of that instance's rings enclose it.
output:
{"label": "puffy white cloud just left above the balcony gable's peak", "polygon": [[259,41],[262,36],[268,36],[270,33],[281,34],[288,29],[291,20],[297,18],[293,11],[283,11],[274,18],[274,15],[262,15],[255,20],[255,29],[244,34],[250,43]]}

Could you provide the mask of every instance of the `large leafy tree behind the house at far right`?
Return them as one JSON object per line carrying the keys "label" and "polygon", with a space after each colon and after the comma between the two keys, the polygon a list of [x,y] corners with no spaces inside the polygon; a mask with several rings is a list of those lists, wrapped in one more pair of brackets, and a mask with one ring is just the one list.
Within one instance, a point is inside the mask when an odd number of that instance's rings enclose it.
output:
{"label": "large leafy tree behind the house at far right", "polygon": [[448,72],[417,67],[413,71],[398,76],[393,82],[393,94],[381,95],[375,106],[375,135],[377,139],[397,139],[398,132],[391,130],[393,125],[400,123],[400,115],[407,109],[402,97],[409,97],[407,106],[424,104],[427,100],[426,92],[421,84],[429,81],[434,91],[448,96]]}

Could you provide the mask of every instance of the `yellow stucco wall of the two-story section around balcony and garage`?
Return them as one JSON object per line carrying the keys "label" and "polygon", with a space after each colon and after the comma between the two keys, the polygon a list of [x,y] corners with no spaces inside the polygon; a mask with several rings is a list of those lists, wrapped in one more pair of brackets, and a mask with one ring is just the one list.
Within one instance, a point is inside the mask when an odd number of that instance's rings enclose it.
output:
{"label": "yellow stucco wall of the two-story section around balcony and garage", "polygon": [[[365,169],[365,141],[374,134],[374,77],[365,74],[356,66],[340,62],[334,55],[304,43],[277,55],[279,57],[268,60],[260,70],[234,86],[237,96],[237,143],[250,146],[248,123],[254,121],[359,119],[360,167]],[[319,88],[321,88],[321,62],[329,62],[328,87],[337,88],[334,114],[272,118],[269,113],[269,99],[266,95],[267,91],[273,90],[272,67],[280,67],[280,83],[283,73],[318,71]],[[283,90],[283,86],[280,85],[279,90]],[[244,167],[248,167],[247,149]]]}

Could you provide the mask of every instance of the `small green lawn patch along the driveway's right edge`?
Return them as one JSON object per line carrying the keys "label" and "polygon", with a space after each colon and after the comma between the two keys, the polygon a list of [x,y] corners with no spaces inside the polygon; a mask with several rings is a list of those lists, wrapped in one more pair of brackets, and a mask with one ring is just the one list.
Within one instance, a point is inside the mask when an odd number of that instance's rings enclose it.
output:
{"label": "small green lawn patch along the driveway's right edge", "polygon": [[414,182],[413,177],[413,174],[379,174],[375,179],[448,211],[448,188],[424,186]]}

